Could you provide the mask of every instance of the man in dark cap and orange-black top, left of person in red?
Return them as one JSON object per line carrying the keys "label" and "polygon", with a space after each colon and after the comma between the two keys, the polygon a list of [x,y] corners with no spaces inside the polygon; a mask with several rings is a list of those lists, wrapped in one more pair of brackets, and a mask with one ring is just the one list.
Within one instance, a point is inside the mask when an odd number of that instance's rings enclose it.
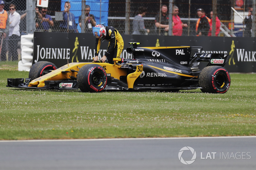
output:
{"label": "man in dark cap and orange-black top, left of person in red", "polygon": [[196,34],[197,36],[207,36],[210,30],[210,18],[205,16],[202,8],[197,9],[197,16],[199,19],[196,22]]}

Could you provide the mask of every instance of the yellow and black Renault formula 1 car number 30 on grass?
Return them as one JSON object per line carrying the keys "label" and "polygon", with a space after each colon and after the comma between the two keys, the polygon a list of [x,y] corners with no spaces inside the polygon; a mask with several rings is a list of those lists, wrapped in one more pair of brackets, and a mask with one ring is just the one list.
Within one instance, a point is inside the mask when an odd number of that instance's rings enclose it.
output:
{"label": "yellow and black Renault formula 1 car number 30 on grass", "polygon": [[[138,47],[130,42],[126,51],[133,59],[114,58],[109,63],[69,63],[59,69],[50,62],[37,62],[29,78],[8,78],[7,87],[75,90],[156,90],[177,92],[197,89],[225,93],[230,75],[223,67],[228,55],[199,53],[202,47]],[[199,69],[199,63],[205,62]]]}

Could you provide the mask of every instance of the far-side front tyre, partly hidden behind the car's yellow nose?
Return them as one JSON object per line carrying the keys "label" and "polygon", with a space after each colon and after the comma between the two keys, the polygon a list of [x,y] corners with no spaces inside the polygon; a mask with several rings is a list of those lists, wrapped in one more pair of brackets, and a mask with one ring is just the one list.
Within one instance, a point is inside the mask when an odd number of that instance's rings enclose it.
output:
{"label": "far-side front tyre, partly hidden behind the car's yellow nose", "polygon": [[32,65],[31,69],[29,70],[28,78],[34,80],[56,69],[56,65],[51,62],[39,61]]}

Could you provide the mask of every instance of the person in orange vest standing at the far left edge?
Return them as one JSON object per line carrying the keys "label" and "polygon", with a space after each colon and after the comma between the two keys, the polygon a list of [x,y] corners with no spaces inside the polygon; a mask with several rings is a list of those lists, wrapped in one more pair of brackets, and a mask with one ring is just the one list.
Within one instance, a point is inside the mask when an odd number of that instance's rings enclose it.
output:
{"label": "person in orange vest standing at the far left edge", "polygon": [[4,10],[4,1],[0,1],[0,33],[2,47],[0,47],[1,61],[6,61],[6,21],[8,18],[7,11]]}

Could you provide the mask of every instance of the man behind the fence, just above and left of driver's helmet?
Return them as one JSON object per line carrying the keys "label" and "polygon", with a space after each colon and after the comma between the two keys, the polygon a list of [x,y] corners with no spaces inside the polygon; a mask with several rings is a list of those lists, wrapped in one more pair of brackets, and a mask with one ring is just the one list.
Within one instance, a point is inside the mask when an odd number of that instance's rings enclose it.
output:
{"label": "man behind the fence, just above and left of driver's helmet", "polygon": [[[90,6],[85,6],[84,33],[92,33],[92,26],[96,26],[94,15],[90,14]],[[82,28],[82,15],[79,16],[79,26]]]}

